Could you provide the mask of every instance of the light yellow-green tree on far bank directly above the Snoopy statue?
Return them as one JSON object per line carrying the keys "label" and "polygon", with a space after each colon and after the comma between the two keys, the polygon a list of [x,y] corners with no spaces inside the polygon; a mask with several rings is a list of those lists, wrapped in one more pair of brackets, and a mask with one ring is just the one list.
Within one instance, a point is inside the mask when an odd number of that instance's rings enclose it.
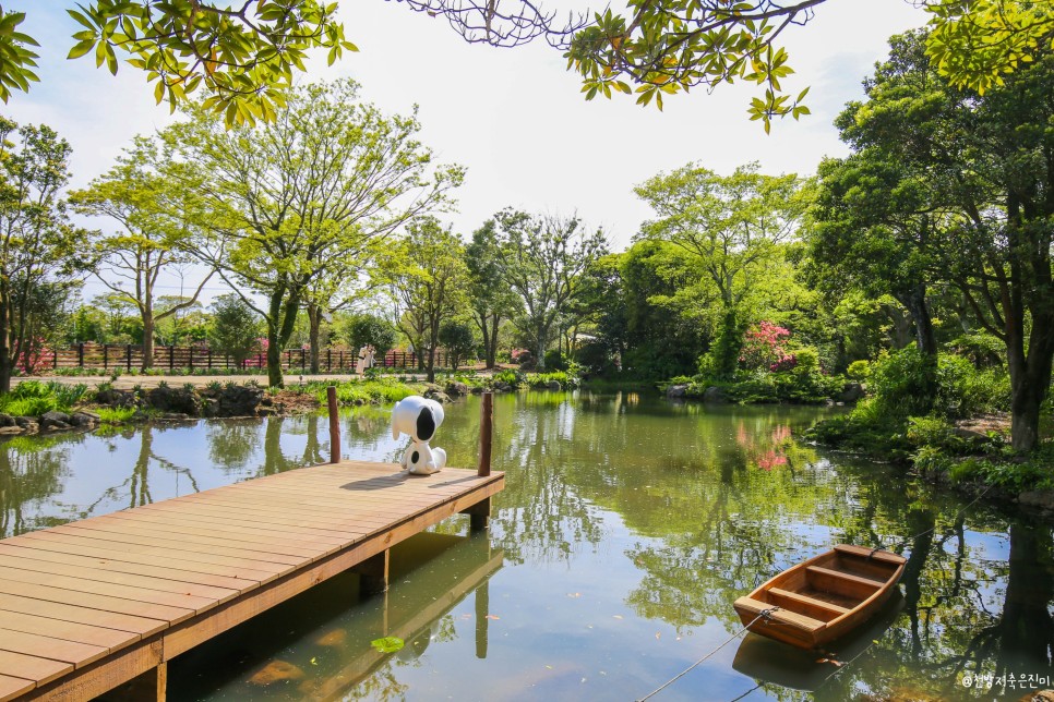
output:
{"label": "light yellow-green tree on far bank directly above the Snoopy statue", "polygon": [[462,241],[434,217],[419,218],[407,227],[404,239],[388,247],[380,275],[388,281],[403,311],[400,326],[423,362],[428,382],[433,383],[440,328],[465,300]]}

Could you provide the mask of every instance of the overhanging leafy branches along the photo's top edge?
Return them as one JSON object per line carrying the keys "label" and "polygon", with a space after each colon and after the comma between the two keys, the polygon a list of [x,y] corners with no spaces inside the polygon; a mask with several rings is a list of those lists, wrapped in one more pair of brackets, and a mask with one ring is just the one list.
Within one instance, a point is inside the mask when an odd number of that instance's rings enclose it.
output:
{"label": "overhanging leafy branches along the photo's top edge", "polygon": [[[404,0],[444,16],[468,41],[512,47],[544,37],[582,76],[586,99],[614,93],[654,101],[693,87],[756,83],[748,113],[766,131],[774,117],[798,119],[807,88],[784,90],[793,73],[780,46],[789,27],[805,25],[826,0],[631,0],[626,11],[586,11],[558,20],[529,0]],[[1051,46],[1054,0],[922,0],[931,13],[927,51],[954,84],[979,92]],[[93,55],[117,73],[119,56],[146,72],[158,102],[172,109],[199,87],[205,107],[226,123],[273,121],[307,52],[327,50],[333,63],[356,51],[336,21],[336,2],[319,0],[96,0],[68,12],[82,25],[69,58]],[[37,81],[37,41],[20,32],[23,12],[0,7],[0,99]],[[635,84],[633,87],[631,84]]]}

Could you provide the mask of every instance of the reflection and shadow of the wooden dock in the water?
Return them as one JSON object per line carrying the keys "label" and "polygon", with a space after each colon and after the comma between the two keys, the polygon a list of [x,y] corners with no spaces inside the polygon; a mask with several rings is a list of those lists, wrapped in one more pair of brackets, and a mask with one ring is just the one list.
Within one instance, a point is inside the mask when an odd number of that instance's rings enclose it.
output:
{"label": "reflection and shadow of the wooden dock in the water", "polygon": [[[386,592],[358,600],[366,583],[337,576],[175,661],[171,698],[342,699],[374,675],[384,686],[379,670],[393,658],[417,659],[433,638],[451,640],[463,627],[472,629],[477,657],[486,657],[488,581],[503,559],[486,533],[412,536],[391,549]],[[455,622],[451,612],[474,593],[474,613]],[[385,637],[406,645],[394,654],[371,645]]]}

